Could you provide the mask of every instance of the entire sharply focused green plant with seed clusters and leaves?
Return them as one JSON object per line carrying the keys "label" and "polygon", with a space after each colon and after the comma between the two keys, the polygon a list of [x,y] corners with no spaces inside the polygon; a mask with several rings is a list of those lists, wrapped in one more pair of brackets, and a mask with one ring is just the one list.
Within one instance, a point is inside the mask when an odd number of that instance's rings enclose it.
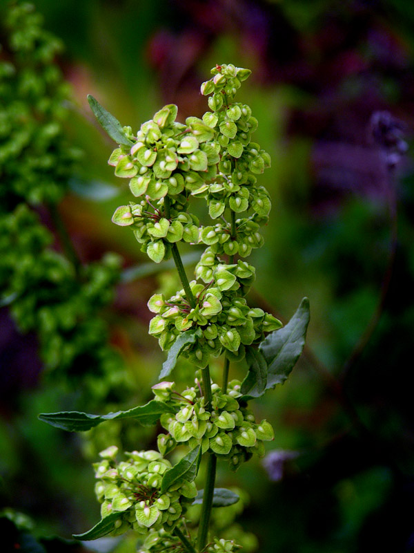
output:
{"label": "entire sharply focused green plant with seed clusters and leaves", "polygon": [[[269,422],[257,422],[249,402],[282,384],[302,353],[309,321],[304,298],[282,326],[273,315],[248,305],[246,294],[255,268],[245,258],[264,243],[260,227],[268,222],[270,198],[257,176],[270,167],[270,156],[251,136],[257,120],[248,105],[235,102],[250,71],[233,64],[215,66],[201,85],[210,111],[201,119],[179,123],[177,106],[169,104],[133,133],[93,97],[92,111],[117,142],[109,164],[129,179],[135,200],[115,211],[112,221],[130,227],[152,261],[172,257],[182,289],[170,297],[152,295],[155,314],[149,333],[168,352],[152,386],[155,399],[129,411],[93,415],[77,411],[41,414],[41,420],[68,431],[86,431],[103,421],[129,418],[141,424],[159,422],[159,451],[132,451],[116,460],[117,448],[101,452],[95,465],[101,521],[83,540],[135,529],[141,552],[186,551],[229,553],[239,545],[228,536],[210,535],[213,507],[230,508],[239,496],[216,488],[217,460],[236,470],[253,454],[264,454],[273,440]],[[213,223],[200,225],[190,212],[204,200]],[[218,220],[218,221],[216,221]],[[216,221],[216,222],[215,222]],[[178,245],[206,246],[188,280]],[[210,377],[210,364],[222,356],[221,384]],[[168,377],[179,357],[194,367],[193,382],[178,391]],[[247,373],[229,382],[230,363],[243,361]],[[178,449],[176,449],[178,448]],[[184,453],[182,449],[184,448]],[[170,458],[181,458],[172,464]],[[204,489],[195,479],[206,458]],[[189,505],[201,504],[193,526]],[[192,509],[193,507],[190,507]]]}

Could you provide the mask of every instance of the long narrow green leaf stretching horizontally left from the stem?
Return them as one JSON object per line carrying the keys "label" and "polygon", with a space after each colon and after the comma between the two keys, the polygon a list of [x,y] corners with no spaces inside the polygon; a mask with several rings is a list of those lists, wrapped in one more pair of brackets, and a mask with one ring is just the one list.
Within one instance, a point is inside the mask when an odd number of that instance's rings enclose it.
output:
{"label": "long narrow green leaf stretching horizontally left from the stem", "polygon": [[39,419],[70,432],[82,432],[96,427],[101,422],[112,419],[135,419],[145,426],[155,424],[162,413],[175,413],[172,407],[163,402],[151,400],[146,405],[133,407],[128,411],[117,411],[107,415],[90,415],[79,411],[61,411],[60,413],[41,413]]}

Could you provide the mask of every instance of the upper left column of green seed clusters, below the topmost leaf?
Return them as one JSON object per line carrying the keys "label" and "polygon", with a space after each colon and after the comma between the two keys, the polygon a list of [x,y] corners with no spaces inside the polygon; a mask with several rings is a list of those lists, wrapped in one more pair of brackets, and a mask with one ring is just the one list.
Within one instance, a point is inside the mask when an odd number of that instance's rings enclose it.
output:
{"label": "upper left column of green seed clusters, below the topmost leaf", "polygon": [[186,124],[176,117],[177,106],[169,104],[141,125],[136,137],[124,127],[132,147],[120,144],[109,159],[117,176],[130,178],[132,194],[145,197],[139,204],[119,207],[112,221],[131,225],[141,250],[156,263],[168,259],[172,243],[199,241],[199,221],[186,213],[188,196],[206,189],[219,162],[219,144],[211,142],[213,129],[194,117]]}

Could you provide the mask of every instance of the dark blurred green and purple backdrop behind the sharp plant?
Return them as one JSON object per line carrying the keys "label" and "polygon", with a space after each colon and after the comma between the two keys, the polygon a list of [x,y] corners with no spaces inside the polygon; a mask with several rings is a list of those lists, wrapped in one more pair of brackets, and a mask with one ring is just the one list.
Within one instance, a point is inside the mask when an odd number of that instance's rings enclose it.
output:
{"label": "dark blurred green and purple backdrop behind the sharp plant", "polygon": [[[404,154],[398,142],[403,132],[409,144],[413,128],[414,4],[34,3],[64,44],[55,57],[72,88],[64,129],[83,150],[59,214],[81,263],[111,251],[124,268],[100,317],[128,385],[99,395],[96,406],[126,409],[150,399],[164,355],[147,335],[146,302],[161,285],[175,289],[176,279],[168,266],[148,268],[132,233],[110,223],[129,193],[106,165],[112,144],[86,94],[135,129],[165,103],[179,106],[181,121],[201,116],[199,84],[216,63],[251,68],[240,100],[252,107],[255,140],[272,157],[261,178],[273,209],[266,245],[253,255],[250,303],[287,321],[306,295],[311,325],[288,383],[255,405],[275,427],[266,467],[250,460],[236,476],[221,467],[220,483],[248,490],[239,521],[259,536],[263,553],[414,551],[414,174],[412,149]],[[0,9],[4,19],[3,0]],[[391,123],[380,117],[374,129],[378,112],[391,114],[384,116]],[[33,209],[55,232],[45,209]],[[53,247],[59,252],[59,241]],[[69,538],[98,518],[90,460],[112,442],[155,447],[155,432],[112,422],[85,438],[39,422],[41,411],[91,410],[81,393],[90,367],[78,366],[75,386],[65,374],[51,378],[36,333],[21,334],[8,306],[0,325],[0,500],[32,518],[39,540]],[[233,366],[234,376],[243,371]],[[177,373],[185,379],[192,370],[183,364]],[[57,540],[46,549],[63,547],[81,550]]]}

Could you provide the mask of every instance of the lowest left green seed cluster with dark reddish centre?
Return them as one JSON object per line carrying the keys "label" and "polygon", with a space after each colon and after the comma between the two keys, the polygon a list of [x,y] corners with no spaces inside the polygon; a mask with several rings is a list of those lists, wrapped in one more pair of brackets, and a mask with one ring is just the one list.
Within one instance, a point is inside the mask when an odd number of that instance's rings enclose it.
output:
{"label": "lowest left green seed cluster with dark reddish centre", "polygon": [[117,447],[108,447],[94,465],[102,518],[119,513],[112,535],[130,528],[144,535],[150,528],[171,532],[197,496],[194,482],[175,482],[161,493],[162,477],[171,468],[161,453],[132,451],[126,453],[126,461],[117,462],[117,452]]}

